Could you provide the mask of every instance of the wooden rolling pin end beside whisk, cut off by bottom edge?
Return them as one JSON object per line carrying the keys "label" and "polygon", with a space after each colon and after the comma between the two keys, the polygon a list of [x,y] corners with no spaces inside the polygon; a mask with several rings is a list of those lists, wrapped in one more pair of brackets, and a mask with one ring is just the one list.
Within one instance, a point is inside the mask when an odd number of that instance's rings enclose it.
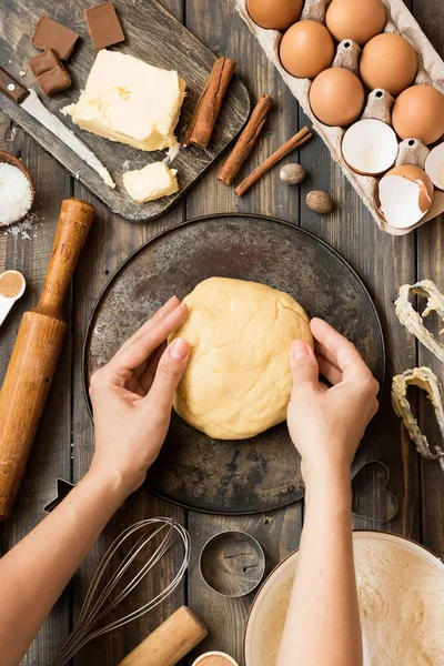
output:
{"label": "wooden rolling pin end beside whisk, cut off by bottom edge", "polygon": [[186,606],[181,606],[119,666],[174,666],[208,635],[208,628]]}

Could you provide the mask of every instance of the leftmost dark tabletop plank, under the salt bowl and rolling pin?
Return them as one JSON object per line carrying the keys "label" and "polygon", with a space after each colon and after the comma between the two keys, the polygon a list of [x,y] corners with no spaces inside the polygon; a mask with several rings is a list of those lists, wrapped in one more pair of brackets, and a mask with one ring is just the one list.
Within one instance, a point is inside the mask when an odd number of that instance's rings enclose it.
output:
{"label": "leftmost dark tabletop plank, under the salt bowl and rolling pin", "polygon": [[[12,125],[0,113],[0,149],[21,155],[30,169],[37,188],[33,208],[36,222],[24,238],[0,231],[0,272],[17,269],[27,279],[24,296],[14,305],[0,329],[0,382],[2,382],[12,352],[21,315],[33,307],[39,299],[61,200],[70,195],[70,178],[32,139]],[[12,230],[14,228],[11,228]],[[18,230],[16,225],[16,230]],[[64,307],[70,317],[70,295]],[[56,478],[70,475],[71,441],[71,362],[72,340],[68,334],[57,367],[49,398],[41,418],[23,483],[10,521],[0,526],[1,553],[9,551],[43,517],[43,506],[56,494]],[[36,638],[23,666],[48,663],[59,647],[69,627],[69,589],[64,592]]]}

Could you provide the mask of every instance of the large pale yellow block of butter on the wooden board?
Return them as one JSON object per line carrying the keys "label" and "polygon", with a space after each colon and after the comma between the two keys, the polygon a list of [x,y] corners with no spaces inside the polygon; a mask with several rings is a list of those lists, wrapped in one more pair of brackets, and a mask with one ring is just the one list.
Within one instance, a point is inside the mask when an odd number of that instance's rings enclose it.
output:
{"label": "large pale yellow block of butter on the wooden board", "polygon": [[120,51],[99,51],[75,104],[62,109],[82,130],[141,150],[176,149],[186,83],[175,71]]}

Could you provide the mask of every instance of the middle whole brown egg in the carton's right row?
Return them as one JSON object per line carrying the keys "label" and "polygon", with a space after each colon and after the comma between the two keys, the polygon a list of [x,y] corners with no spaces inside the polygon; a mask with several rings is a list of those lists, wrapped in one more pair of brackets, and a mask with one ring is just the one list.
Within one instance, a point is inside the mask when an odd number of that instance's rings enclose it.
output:
{"label": "middle whole brown egg in the carton's right row", "polygon": [[397,97],[416,77],[416,51],[401,34],[384,32],[365,44],[360,70],[370,90],[382,88]]}

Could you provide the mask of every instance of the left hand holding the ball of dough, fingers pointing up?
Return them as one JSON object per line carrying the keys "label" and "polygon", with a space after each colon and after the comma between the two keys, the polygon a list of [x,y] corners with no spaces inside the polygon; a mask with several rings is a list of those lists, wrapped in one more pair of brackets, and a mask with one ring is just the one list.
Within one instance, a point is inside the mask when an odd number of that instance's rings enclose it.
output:
{"label": "left hand holding the ball of dough, fingers pointing up", "polygon": [[173,296],[91,377],[91,471],[115,480],[124,496],[142,485],[165,438],[190,354],[186,341],[167,346],[167,339],[186,316],[186,305]]}

